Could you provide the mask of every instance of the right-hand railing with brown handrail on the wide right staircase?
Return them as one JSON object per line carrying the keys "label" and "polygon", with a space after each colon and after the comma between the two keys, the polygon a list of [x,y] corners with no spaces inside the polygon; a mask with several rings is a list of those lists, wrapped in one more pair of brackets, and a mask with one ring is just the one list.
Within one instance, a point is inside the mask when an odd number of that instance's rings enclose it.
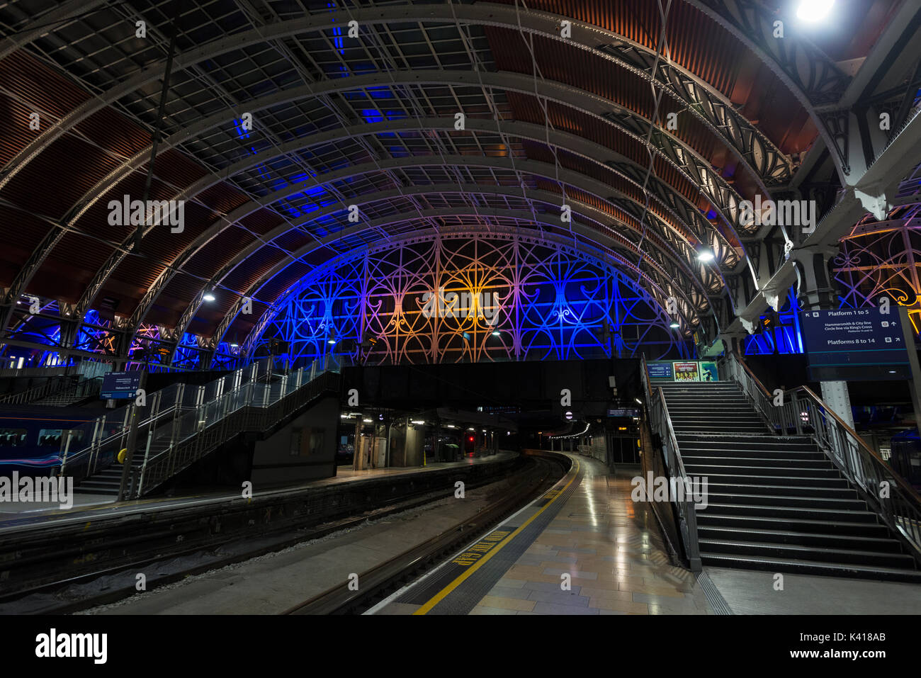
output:
{"label": "right-hand railing with brown handrail on the wide right staircase", "polygon": [[[742,362],[729,354],[726,358],[728,374],[738,381],[737,375],[748,375],[761,392],[768,393],[764,385]],[[742,390],[749,393],[745,384]],[[787,389],[780,404],[769,400],[768,418],[775,433],[780,436],[809,436],[815,440],[825,456],[857,485],[870,508],[876,511],[885,524],[903,537],[915,561],[921,564],[921,497],[915,488],[892,470],[880,455],[872,450],[857,431],[847,425],[834,410],[822,401],[808,386]],[[757,407],[757,401],[753,401]]]}

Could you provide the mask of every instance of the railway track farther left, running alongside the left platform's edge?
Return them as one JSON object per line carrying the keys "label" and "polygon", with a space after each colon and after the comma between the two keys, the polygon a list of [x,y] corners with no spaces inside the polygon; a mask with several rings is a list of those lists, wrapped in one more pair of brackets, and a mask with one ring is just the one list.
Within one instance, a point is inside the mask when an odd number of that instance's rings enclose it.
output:
{"label": "railway track farther left, running alongside the left platform's edge", "polygon": [[[530,458],[519,458],[514,463],[499,462],[495,473],[465,476],[464,482],[469,489],[472,489],[493,483],[512,473],[527,473],[530,477],[531,472],[525,470],[529,463],[534,462]],[[0,614],[69,614],[117,602],[136,594],[134,574],[138,571],[156,572],[156,575],[146,580],[146,590],[153,590],[208,570],[280,551],[334,532],[356,528],[366,523],[367,520],[379,520],[394,513],[443,499],[447,489],[453,491],[456,477],[460,477],[458,473],[445,473],[445,477],[439,481],[441,486],[435,489],[429,483],[420,486],[416,491],[408,491],[400,497],[384,501],[381,500],[382,489],[377,493],[372,493],[353,485],[349,489],[359,489],[359,493],[364,495],[364,501],[351,505],[348,505],[348,502],[341,502],[340,514],[332,516],[332,520],[318,520],[316,512],[311,519],[310,510],[300,513],[293,511],[291,515],[281,520],[276,518],[271,525],[254,525],[250,521],[246,530],[236,532],[224,530],[222,532],[220,525],[215,526],[214,521],[216,516],[219,516],[220,520],[229,522],[227,515],[220,513],[222,510],[227,510],[224,504],[214,507],[205,506],[196,510],[177,511],[180,515],[176,517],[176,520],[166,520],[157,526],[146,525],[154,528],[147,531],[139,529],[146,523],[133,524],[113,520],[111,530],[108,532],[102,530],[98,534],[86,535],[86,538],[80,543],[64,540],[64,544],[59,544],[58,548],[52,549],[53,557],[49,556],[48,562],[42,560],[43,553],[29,555],[18,552],[20,567],[32,565],[50,569],[55,566],[61,568],[60,572],[67,572],[68,564],[74,562],[79,562],[84,567],[78,573],[64,577],[59,575],[48,579],[37,575],[34,582],[18,579],[15,588],[5,586],[6,590],[0,594]],[[417,476],[417,484],[419,478],[431,481],[432,474]],[[280,512],[278,499],[274,499],[274,503],[269,499],[263,501],[264,507],[254,507],[252,510],[259,511],[263,515],[271,512],[273,508],[276,509],[276,512]],[[333,503],[340,503],[340,499],[336,499]],[[347,514],[344,514],[343,510],[346,505],[349,509]],[[239,506],[235,506],[234,510],[239,510]],[[246,512],[240,514],[236,522],[245,524],[248,515],[250,514]],[[203,529],[203,526],[206,529]],[[183,533],[188,534],[190,538],[177,541],[178,535]],[[167,538],[164,539],[164,536]],[[53,544],[52,536],[48,535],[46,541]],[[222,549],[227,549],[228,544],[237,547],[231,548],[230,553],[221,553]],[[18,548],[23,548],[23,544],[19,544]],[[44,551],[47,550],[44,549]],[[112,557],[111,564],[103,567],[99,563],[97,567],[86,567],[87,563],[92,564],[94,555],[112,555],[115,552],[120,555]],[[182,557],[195,560],[196,556],[198,562],[194,564],[173,565],[171,571],[165,572],[164,567],[161,567],[163,564],[174,563]],[[94,584],[102,580],[107,581],[106,588],[93,591]],[[78,592],[74,593],[75,590]],[[31,604],[32,601],[34,605]]]}

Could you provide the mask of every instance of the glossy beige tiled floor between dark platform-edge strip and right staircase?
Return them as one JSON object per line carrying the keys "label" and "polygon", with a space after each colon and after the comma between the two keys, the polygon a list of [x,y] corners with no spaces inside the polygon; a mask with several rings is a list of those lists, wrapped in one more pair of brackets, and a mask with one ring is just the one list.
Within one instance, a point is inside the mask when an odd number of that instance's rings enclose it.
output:
{"label": "glossy beige tiled floor between dark platform-edge strip and right staircase", "polygon": [[670,566],[655,517],[631,500],[639,468],[610,475],[579,462],[576,491],[472,614],[714,614],[694,575]]}

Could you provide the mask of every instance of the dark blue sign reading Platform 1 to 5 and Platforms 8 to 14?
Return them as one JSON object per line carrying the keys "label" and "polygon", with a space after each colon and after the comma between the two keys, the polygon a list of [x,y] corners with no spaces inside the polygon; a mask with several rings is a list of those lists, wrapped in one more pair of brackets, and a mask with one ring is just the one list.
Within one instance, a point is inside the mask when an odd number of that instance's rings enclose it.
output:
{"label": "dark blue sign reading Platform 1 to 5 and Platforms 8 to 14", "polygon": [[895,309],[889,313],[873,308],[803,311],[810,379],[910,379],[902,323]]}

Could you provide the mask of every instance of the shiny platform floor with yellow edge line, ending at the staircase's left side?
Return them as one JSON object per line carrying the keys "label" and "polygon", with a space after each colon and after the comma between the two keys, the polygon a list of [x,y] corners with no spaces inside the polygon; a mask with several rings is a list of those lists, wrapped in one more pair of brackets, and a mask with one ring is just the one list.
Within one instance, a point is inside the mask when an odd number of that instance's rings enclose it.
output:
{"label": "shiny platform floor with yellow edge line, ending at the staircase's left side", "polygon": [[[554,490],[496,528],[507,537],[487,550],[479,571],[442,577],[437,586],[419,582],[376,613],[715,614],[694,573],[670,564],[651,510],[631,499],[639,473],[576,458]],[[543,527],[529,536],[538,518]],[[463,555],[451,562],[469,565]]]}

